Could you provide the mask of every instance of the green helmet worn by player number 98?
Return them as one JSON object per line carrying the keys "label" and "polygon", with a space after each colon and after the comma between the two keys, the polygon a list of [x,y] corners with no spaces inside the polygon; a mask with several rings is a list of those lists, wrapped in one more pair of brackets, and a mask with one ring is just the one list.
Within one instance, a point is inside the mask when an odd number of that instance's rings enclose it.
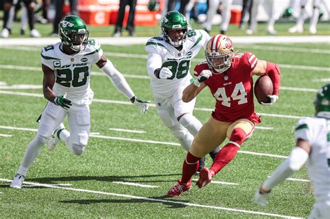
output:
{"label": "green helmet worn by player number 98", "polygon": [[[179,41],[173,41],[168,35],[169,30],[183,30],[184,36]],[[186,39],[188,30],[188,23],[186,17],[178,11],[172,10],[166,13],[162,19],[162,32],[167,42],[171,43],[174,47],[180,47]]]}

